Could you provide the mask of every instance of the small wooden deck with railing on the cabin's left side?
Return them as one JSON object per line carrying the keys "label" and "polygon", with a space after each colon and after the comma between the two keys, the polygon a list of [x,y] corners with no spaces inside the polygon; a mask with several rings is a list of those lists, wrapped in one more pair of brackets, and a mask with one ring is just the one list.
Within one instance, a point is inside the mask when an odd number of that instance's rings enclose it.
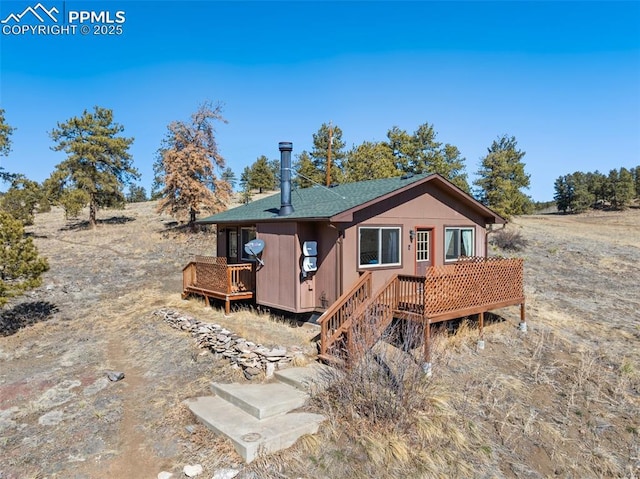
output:
{"label": "small wooden deck with railing on the cabin's left side", "polygon": [[226,258],[196,256],[182,270],[182,298],[190,294],[224,301],[225,314],[231,301],[251,299],[255,290],[255,271],[252,263],[227,264]]}

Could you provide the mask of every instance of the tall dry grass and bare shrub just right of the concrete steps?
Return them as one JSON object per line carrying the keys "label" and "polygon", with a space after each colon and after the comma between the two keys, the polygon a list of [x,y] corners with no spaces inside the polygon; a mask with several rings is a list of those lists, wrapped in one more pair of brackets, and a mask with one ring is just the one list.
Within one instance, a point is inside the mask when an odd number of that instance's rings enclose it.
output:
{"label": "tall dry grass and bare shrub just right of the concrete steps", "polygon": [[[418,343],[411,334],[422,337],[421,330],[407,330],[404,344]],[[435,339],[436,356],[449,339],[462,342],[458,335]],[[471,477],[486,462],[478,429],[454,409],[457,393],[423,374],[420,356],[417,349],[402,352],[381,341],[354,366],[327,370],[312,400],[328,416],[321,440],[283,453],[298,458],[286,460],[284,477]],[[260,477],[277,477],[253,467]]]}

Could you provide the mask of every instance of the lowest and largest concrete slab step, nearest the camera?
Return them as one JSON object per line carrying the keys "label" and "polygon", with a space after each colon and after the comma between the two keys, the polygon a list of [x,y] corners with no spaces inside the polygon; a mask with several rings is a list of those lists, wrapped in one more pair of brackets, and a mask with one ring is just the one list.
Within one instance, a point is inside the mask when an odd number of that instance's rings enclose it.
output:
{"label": "lowest and largest concrete slab step, nearest the camera", "polygon": [[205,426],[231,439],[236,451],[247,463],[258,455],[291,447],[305,434],[315,434],[325,419],[312,413],[289,413],[257,419],[217,396],[188,399],[185,404]]}

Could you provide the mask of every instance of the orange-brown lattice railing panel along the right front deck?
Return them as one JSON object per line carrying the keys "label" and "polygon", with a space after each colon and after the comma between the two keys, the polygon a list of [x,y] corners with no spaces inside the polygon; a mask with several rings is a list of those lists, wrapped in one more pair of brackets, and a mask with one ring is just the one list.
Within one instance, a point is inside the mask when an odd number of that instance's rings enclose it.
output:
{"label": "orange-brown lattice railing panel along the right front deck", "polygon": [[521,258],[465,258],[427,270],[424,316],[430,321],[523,303]]}

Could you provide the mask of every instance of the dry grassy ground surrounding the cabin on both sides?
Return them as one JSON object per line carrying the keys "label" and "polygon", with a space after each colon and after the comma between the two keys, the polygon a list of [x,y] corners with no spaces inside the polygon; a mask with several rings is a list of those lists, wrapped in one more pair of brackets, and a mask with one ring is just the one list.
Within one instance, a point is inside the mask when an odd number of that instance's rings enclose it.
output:
{"label": "dry grassy ground surrounding the cabin on both sides", "polygon": [[[52,271],[33,299],[57,310],[0,338],[3,477],[126,477],[133,465],[155,477],[187,463],[210,477],[240,467],[227,441],[194,425],[183,400],[209,394],[211,381],[243,377],[152,312],[177,309],[309,355],[317,331],[181,300],[180,270],[191,255],[212,252],[212,237],[168,230],[153,204],[133,205],[116,214],[132,221],[98,231],[56,215],[36,217]],[[515,222],[528,241],[528,333],[517,329],[517,308],[487,321],[484,350],[473,318],[445,328],[433,340],[431,378],[421,374],[419,349],[377,350],[379,362],[335,374],[314,397],[309,408],[328,417],[318,435],[238,477],[639,477],[640,211]],[[125,380],[85,394],[106,369]],[[82,385],[69,401],[47,405],[73,381]],[[62,422],[38,424],[56,411]]]}

